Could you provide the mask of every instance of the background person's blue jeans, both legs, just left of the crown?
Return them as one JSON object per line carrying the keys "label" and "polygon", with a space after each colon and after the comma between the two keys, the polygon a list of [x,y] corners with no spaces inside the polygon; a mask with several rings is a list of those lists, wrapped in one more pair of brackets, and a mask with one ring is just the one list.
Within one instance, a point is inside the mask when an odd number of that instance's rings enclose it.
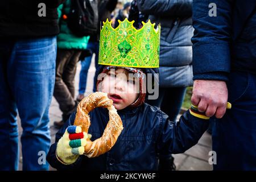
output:
{"label": "background person's blue jeans, both legs, just left of the crown", "polygon": [[[95,67],[98,67],[98,42],[89,42],[87,49],[90,49],[93,53],[96,54],[95,57]],[[84,94],[86,89],[86,81],[87,81],[87,74],[90,67],[90,62],[92,61],[92,56],[88,56],[85,60],[81,61],[81,72],[79,78],[79,94]],[[95,76],[94,76],[95,80]],[[93,92],[96,92],[96,83],[93,85]]]}

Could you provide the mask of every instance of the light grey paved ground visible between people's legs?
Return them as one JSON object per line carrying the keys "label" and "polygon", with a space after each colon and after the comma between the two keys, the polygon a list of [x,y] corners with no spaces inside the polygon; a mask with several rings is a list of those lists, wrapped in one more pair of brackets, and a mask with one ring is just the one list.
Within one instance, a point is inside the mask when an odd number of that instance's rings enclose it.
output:
{"label": "light grey paved ground visible between people's legs", "polygon": [[[77,65],[77,74],[75,78],[76,96],[78,94],[80,69],[81,67],[79,63]],[[94,72],[95,72],[94,62],[92,62],[92,64],[90,65],[89,73],[88,73],[88,80],[87,80],[85,95],[92,93]],[[55,98],[52,99],[51,107],[49,110],[49,118],[50,118],[51,138],[52,138],[52,142],[54,142],[55,134],[57,130],[53,126],[53,122],[61,120],[61,111],[59,109],[59,104],[57,104]],[[22,133],[22,129],[19,126],[19,136],[21,133]],[[209,151],[211,151],[211,146],[212,146],[212,137],[208,133],[205,133],[203,137],[199,140],[199,143],[197,143],[194,147],[187,150],[184,154],[174,155],[177,170],[181,170],[181,171],[212,170],[212,166],[208,163],[208,159],[209,159],[208,154],[209,154]],[[21,151],[20,151],[20,154],[21,154]],[[22,169],[22,157],[20,156],[19,170],[21,169]],[[50,170],[55,170],[55,169],[50,168]]]}

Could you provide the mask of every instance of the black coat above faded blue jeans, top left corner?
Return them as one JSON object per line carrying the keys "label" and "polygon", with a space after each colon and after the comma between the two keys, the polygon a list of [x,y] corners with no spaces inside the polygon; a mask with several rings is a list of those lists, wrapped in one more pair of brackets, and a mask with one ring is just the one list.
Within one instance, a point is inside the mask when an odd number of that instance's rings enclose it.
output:
{"label": "black coat above faded blue jeans, top left corner", "polygon": [[[65,0],[0,1],[0,37],[40,37],[59,33],[57,7]],[[46,17],[39,17],[39,3],[46,4]]]}

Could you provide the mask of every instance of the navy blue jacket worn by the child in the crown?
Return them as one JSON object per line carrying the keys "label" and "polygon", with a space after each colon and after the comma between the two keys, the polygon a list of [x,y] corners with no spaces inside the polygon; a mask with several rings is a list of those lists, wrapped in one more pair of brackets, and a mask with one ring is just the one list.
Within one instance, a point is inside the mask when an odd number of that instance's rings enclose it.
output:
{"label": "navy blue jacket worn by the child in the crown", "polygon": [[[195,145],[208,127],[208,121],[193,117],[188,111],[179,122],[171,122],[168,115],[148,104],[135,109],[119,110],[123,131],[113,148],[96,158],[81,155],[71,165],[56,159],[56,146],[68,126],[75,120],[73,113],[56,134],[55,143],[47,154],[48,163],[59,170],[156,170],[159,152],[163,155],[183,153]],[[109,121],[108,110],[96,108],[89,113],[92,140],[100,138]]]}

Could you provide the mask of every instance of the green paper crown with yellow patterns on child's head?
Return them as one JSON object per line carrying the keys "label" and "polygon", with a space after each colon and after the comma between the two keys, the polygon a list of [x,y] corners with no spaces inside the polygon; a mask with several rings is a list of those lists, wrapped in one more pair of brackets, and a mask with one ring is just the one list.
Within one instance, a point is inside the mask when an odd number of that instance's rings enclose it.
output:
{"label": "green paper crown with yellow patterns on child's head", "polygon": [[127,18],[119,26],[112,27],[107,19],[100,36],[98,64],[118,67],[158,68],[160,26],[154,28],[150,20],[139,30]]}

